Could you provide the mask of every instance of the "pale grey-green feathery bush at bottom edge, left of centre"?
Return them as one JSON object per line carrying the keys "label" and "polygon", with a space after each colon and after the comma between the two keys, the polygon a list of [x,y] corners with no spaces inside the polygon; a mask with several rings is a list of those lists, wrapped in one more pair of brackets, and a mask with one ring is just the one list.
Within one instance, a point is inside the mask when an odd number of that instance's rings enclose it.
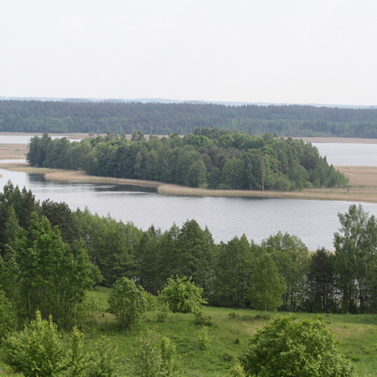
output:
{"label": "pale grey-green feathery bush at bottom edge, left of centre", "polygon": [[134,357],[133,375],[136,377],[178,377],[179,359],[176,347],[165,336],[147,331],[139,339]]}

